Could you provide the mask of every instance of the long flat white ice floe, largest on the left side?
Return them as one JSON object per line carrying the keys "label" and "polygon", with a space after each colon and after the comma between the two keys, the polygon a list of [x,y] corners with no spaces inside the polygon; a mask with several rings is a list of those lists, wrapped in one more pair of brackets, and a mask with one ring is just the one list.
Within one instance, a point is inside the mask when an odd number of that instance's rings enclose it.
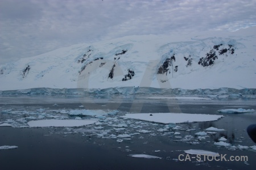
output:
{"label": "long flat white ice floe, largest on the left side", "polygon": [[96,123],[97,120],[36,120],[29,121],[30,127],[78,127]]}

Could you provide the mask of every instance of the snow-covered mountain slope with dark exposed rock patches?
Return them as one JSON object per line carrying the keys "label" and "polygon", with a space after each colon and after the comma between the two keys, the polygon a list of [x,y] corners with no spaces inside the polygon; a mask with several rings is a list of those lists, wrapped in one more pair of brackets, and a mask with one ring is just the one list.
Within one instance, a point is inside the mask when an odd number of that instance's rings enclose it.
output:
{"label": "snow-covered mountain slope with dark exposed rock patches", "polygon": [[256,27],[127,36],[0,64],[0,90],[256,88]]}

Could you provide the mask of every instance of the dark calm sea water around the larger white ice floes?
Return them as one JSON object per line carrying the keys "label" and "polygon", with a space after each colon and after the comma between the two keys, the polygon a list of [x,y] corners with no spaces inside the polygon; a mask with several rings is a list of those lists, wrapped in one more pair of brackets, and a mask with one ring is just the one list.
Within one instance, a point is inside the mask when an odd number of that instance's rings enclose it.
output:
{"label": "dark calm sea water around the larger white ice floes", "polygon": [[[213,100],[155,100],[145,96],[1,96],[0,124],[16,121],[17,128],[0,127],[0,146],[18,146],[12,150],[0,150],[1,169],[255,169],[256,152],[253,150],[230,150],[218,147],[220,137],[234,146],[254,146],[246,133],[246,128],[256,122],[256,114],[225,114],[219,109],[244,108],[255,109],[255,99],[226,97]],[[108,120],[100,120],[101,125],[89,125],[80,128],[18,128],[30,121],[28,117],[37,117],[43,113],[51,116],[75,117],[59,111],[72,109],[117,110]],[[163,124],[118,118],[125,113],[200,113],[221,114],[224,118],[211,122],[178,124],[183,129],[159,132]],[[34,114],[33,114],[34,113]],[[20,118],[24,122],[19,122]],[[47,118],[47,117],[46,117]],[[83,119],[91,117],[81,117]],[[18,121],[19,120],[19,121]],[[11,121],[10,121],[11,122]],[[124,130],[115,131],[110,122],[126,124]],[[12,123],[10,123],[12,124]],[[14,124],[14,123],[13,123]],[[137,128],[135,126],[138,126]],[[209,127],[225,129],[217,134],[197,139],[195,133]],[[97,127],[101,127],[97,129]],[[111,134],[134,134],[137,130],[151,133],[131,135],[118,143],[109,138]],[[180,135],[171,132],[177,131]],[[105,134],[104,134],[105,133]],[[193,138],[185,141],[185,137]],[[184,150],[207,150],[229,156],[247,156],[244,162],[197,162],[177,160]],[[132,158],[130,154],[147,154],[162,159]],[[203,158],[203,157],[202,157]]]}

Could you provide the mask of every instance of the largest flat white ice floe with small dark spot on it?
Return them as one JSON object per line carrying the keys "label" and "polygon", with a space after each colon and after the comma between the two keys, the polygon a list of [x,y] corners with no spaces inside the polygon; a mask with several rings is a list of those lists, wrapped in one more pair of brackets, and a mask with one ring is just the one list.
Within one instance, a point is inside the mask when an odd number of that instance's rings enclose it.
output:
{"label": "largest flat white ice floe with small dark spot on it", "polygon": [[[152,116],[151,116],[152,115]],[[121,116],[135,120],[150,121],[162,124],[179,124],[185,122],[216,121],[224,116],[215,114],[189,114],[189,113],[132,113]]]}

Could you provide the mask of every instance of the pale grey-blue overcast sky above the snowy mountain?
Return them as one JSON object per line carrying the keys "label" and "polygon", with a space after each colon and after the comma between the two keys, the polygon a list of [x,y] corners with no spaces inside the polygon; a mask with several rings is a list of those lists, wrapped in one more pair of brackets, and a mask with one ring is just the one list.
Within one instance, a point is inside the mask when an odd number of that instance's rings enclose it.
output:
{"label": "pale grey-blue overcast sky above the snowy mountain", "polygon": [[256,0],[0,0],[0,63],[130,35],[236,31]]}

